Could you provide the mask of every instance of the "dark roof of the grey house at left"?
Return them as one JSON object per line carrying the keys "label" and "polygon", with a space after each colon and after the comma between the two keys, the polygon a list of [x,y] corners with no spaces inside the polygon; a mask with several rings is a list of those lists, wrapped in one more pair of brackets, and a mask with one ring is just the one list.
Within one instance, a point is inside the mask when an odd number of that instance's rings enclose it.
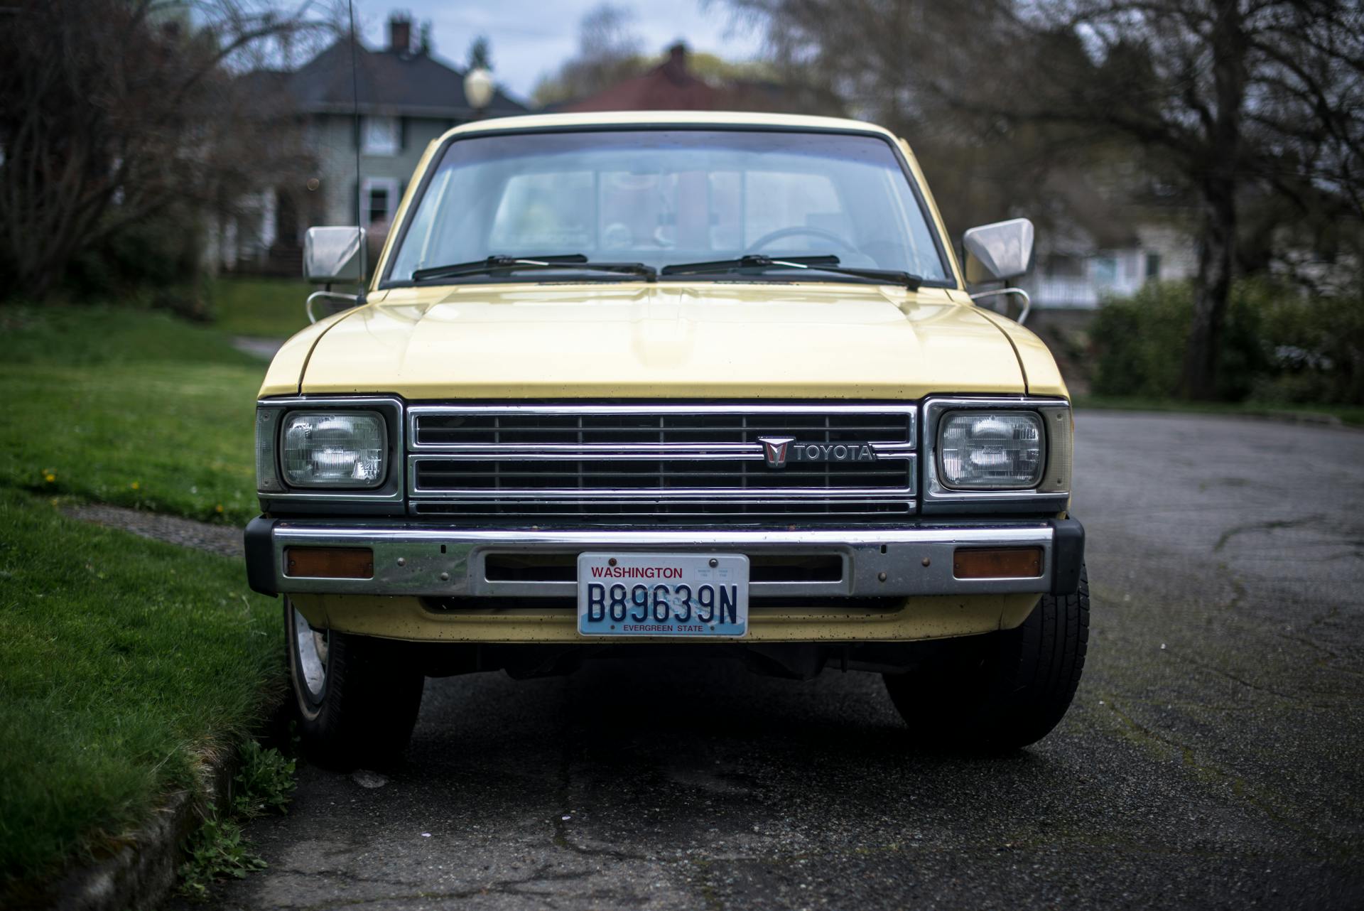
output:
{"label": "dark roof of the grey house at left", "polygon": [[[299,109],[310,113],[349,113],[355,98],[366,113],[450,117],[468,120],[473,108],[464,97],[464,70],[428,53],[355,48],[355,85],[351,76],[351,41],[341,38],[288,75],[286,90]],[[516,115],[527,110],[501,90],[486,113]]]}

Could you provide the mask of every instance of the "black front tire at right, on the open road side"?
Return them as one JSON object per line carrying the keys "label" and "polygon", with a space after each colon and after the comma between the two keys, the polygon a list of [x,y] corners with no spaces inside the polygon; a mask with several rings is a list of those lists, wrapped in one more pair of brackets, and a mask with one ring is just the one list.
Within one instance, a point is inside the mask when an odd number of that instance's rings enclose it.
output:
{"label": "black front tire at right, on the open road side", "polygon": [[915,734],[951,746],[1013,750],[1057,726],[1075,697],[1090,638],[1090,582],[1043,595],[1020,626],[948,644],[941,661],[887,674]]}

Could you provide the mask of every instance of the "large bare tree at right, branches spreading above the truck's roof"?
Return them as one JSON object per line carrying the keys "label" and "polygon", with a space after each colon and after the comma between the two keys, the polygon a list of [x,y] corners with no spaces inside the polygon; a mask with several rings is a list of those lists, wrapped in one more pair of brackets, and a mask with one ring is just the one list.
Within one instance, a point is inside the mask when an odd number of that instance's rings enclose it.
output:
{"label": "large bare tree at right, branches spreading above the truck's roof", "polygon": [[1019,136],[1034,162],[1125,147],[1173,179],[1198,211],[1189,397],[1217,393],[1247,196],[1318,221],[1364,217],[1364,12],[1349,0],[730,3],[854,109],[933,125],[947,149],[993,136],[1003,157],[975,154],[1022,160],[1020,181],[1037,172]]}

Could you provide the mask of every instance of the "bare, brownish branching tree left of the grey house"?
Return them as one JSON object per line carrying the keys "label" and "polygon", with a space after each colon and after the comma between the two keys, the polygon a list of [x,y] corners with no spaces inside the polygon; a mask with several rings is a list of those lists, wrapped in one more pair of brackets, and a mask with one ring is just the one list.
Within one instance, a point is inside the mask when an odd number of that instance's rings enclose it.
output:
{"label": "bare, brownish branching tree left of the grey house", "polygon": [[251,0],[22,0],[3,18],[4,293],[41,297],[82,251],[209,213],[289,157],[286,116],[237,74],[308,23]]}

